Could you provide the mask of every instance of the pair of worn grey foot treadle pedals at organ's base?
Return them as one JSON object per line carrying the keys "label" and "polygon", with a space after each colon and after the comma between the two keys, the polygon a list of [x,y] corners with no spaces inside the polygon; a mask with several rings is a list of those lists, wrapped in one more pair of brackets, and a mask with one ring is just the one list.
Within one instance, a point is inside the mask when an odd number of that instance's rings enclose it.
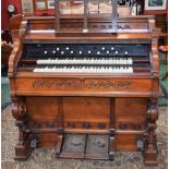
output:
{"label": "pair of worn grey foot treadle pedals at organ's base", "polygon": [[109,135],[65,134],[59,157],[109,159]]}

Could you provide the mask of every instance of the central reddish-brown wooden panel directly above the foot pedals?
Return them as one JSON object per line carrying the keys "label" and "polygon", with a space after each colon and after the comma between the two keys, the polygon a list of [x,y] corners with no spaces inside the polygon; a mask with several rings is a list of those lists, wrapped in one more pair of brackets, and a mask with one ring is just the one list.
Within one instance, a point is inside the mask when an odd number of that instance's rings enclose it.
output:
{"label": "central reddish-brown wooden panel directly above the foot pedals", "polygon": [[[108,129],[110,100],[96,97],[63,97],[63,113],[65,128],[73,122],[74,128],[99,129],[99,123],[104,123],[105,129]],[[85,126],[84,123],[89,123],[90,126]]]}

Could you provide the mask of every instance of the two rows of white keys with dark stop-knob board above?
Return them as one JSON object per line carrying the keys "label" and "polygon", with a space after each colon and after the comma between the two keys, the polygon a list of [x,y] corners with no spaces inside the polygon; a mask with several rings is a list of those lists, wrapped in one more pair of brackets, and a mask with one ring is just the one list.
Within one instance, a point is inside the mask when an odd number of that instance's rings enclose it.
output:
{"label": "two rows of white keys with dark stop-knob board above", "polygon": [[[85,45],[84,50],[80,45],[37,44],[34,47],[37,48],[36,50],[29,48],[25,49],[21,69],[33,68],[33,72],[141,73],[150,71],[148,45]],[[29,61],[32,61],[31,64],[28,64]]]}

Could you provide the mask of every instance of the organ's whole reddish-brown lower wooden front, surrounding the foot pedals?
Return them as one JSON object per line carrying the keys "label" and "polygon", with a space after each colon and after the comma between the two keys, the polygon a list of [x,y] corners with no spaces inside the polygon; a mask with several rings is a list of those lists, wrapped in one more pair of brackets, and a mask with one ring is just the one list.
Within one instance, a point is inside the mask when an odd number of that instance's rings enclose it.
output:
{"label": "organ's whole reddish-brown lower wooden front, surrounding the foot pedals", "polygon": [[62,135],[114,131],[114,149],[136,150],[145,131],[147,98],[26,97],[28,125],[43,147],[55,147]]}

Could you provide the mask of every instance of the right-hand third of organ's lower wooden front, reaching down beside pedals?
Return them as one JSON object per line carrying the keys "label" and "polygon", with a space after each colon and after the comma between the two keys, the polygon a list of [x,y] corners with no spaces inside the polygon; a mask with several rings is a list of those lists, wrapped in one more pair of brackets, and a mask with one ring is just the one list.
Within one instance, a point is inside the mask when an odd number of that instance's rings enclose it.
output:
{"label": "right-hand third of organ's lower wooden front, reaching down beside pedals", "polygon": [[114,98],[114,145],[117,150],[137,150],[145,131],[147,98]]}

